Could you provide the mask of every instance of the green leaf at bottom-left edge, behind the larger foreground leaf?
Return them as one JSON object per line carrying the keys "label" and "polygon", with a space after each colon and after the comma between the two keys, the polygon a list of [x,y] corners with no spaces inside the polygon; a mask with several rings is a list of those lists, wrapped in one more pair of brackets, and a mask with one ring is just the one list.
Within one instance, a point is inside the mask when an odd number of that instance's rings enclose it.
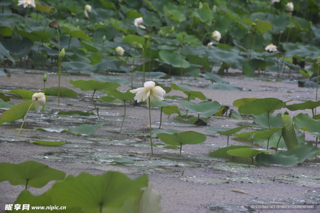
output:
{"label": "green leaf at bottom-left edge, behind the larger foreground leaf", "polygon": [[35,161],[20,164],[0,163],[0,182],[8,180],[12,185],[41,188],[51,180],[63,180],[66,173]]}

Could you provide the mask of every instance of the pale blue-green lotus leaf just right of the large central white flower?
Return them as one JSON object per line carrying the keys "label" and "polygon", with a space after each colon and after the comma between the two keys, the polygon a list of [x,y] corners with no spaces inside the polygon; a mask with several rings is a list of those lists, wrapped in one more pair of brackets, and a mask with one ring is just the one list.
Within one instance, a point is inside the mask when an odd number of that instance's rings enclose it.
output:
{"label": "pale blue-green lotus leaf just right of the large central white flower", "polygon": [[190,110],[197,114],[202,114],[204,116],[212,116],[213,114],[219,112],[221,109],[220,103],[216,101],[202,101],[200,103],[179,102],[179,104],[187,110]]}

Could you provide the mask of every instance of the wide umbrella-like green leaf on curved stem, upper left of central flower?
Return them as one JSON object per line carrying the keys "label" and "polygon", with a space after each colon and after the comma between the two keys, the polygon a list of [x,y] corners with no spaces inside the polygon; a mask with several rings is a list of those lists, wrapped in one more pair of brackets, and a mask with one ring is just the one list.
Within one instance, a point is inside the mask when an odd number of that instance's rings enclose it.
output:
{"label": "wide umbrella-like green leaf on curved stem, upper left of central flower", "polygon": [[80,88],[82,91],[111,91],[117,87],[120,87],[120,84],[118,83],[101,82],[97,80],[70,80],[70,84],[72,84],[76,88]]}

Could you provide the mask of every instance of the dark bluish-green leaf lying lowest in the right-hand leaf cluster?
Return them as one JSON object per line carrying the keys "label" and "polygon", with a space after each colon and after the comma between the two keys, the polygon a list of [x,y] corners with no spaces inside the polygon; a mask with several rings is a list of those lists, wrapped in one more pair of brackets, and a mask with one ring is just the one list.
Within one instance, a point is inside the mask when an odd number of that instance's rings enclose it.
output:
{"label": "dark bluish-green leaf lying lowest in the right-hand leaf cluster", "polygon": [[258,164],[265,165],[282,165],[282,166],[297,166],[300,163],[300,159],[296,155],[285,156],[282,152],[265,154],[260,153],[256,156],[256,162]]}

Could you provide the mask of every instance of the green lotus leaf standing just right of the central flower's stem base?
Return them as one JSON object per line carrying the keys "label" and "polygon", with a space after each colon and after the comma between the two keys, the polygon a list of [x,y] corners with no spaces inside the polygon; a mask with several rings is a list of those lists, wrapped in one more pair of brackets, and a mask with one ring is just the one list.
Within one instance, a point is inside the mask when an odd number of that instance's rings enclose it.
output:
{"label": "green lotus leaf standing just right of the central flower's stem base", "polygon": [[195,131],[187,131],[173,134],[159,133],[157,134],[157,137],[165,144],[176,146],[185,144],[198,144],[204,142],[207,139],[205,134],[198,133]]}

